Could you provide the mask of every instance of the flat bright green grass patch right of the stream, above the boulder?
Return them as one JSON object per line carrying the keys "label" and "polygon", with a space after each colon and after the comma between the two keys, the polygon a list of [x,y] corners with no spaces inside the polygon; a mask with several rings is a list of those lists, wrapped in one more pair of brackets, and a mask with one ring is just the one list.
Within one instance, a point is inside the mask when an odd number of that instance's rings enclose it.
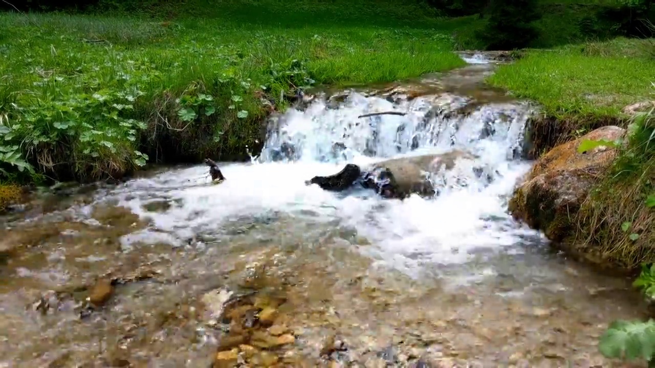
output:
{"label": "flat bright green grass patch right of the stream, above the boulder", "polygon": [[615,39],[555,50],[529,50],[488,82],[535,100],[557,119],[620,117],[631,103],[652,100],[653,40]]}

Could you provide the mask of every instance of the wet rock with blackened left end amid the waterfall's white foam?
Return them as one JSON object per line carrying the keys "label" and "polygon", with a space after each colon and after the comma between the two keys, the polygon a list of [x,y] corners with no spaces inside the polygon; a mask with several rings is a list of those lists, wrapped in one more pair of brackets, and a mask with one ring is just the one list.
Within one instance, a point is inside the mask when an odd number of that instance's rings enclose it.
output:
{"label": "wet rock with blackened left end amid the waterfall's white foam", "polygon": [[439,155],[394,158],[360,168],[347,164],[341,172],[329,176],[315,176],[306,183],[318,184],[326,191],[343,191],[360,180],[362,187],[374,189],[386,198],[405,198],[411,194],[432,196],[435,189],[426,174],[444,168],[451,170],[457,160],[474,160],[476,156],[453,150]]}

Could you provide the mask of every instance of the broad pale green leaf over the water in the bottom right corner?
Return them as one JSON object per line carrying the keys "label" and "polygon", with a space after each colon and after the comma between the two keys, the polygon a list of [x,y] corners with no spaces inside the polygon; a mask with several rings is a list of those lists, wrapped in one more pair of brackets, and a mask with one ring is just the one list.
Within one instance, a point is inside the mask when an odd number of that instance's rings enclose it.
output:
{"label": "broad pale green leaf over the water in the bottom right corner", "polygon": [[655,367],[655,321],[614,321],[601,336],[598,347],[607,358],[642,358],[648,361],[648,367]]}

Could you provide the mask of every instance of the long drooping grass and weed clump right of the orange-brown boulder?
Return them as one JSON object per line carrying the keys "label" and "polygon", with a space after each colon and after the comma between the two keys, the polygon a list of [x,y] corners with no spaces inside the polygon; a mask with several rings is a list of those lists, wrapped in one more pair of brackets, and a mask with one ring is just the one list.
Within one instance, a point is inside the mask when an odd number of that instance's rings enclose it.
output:
{"label": "long drooping grass and weed clump right of the orange-brown boulder", "polygon": [[655,109],[637,114],[577,215],[576,243],[625,268],[655,261]]}

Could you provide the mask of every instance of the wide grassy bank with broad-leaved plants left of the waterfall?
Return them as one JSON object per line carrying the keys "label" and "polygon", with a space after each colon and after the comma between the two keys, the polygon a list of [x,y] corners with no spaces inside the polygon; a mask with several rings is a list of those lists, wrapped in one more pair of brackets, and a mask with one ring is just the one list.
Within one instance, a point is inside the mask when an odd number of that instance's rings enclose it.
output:
{"label": "wide grassy bank with broad-leaved plants left of the waterfall", "polygon": [[411,6],[386,18],[384,7],[368,9],[331,25],[301,22],[307,9],[285,17],[227,5],[221,16],[174,22],[0,14],[0,168],[10,179],[33,170],[36,179],[90,180],[146,161],[243,157],[297,88],[464,64],[451,52],[452,24],[403,20]]}

